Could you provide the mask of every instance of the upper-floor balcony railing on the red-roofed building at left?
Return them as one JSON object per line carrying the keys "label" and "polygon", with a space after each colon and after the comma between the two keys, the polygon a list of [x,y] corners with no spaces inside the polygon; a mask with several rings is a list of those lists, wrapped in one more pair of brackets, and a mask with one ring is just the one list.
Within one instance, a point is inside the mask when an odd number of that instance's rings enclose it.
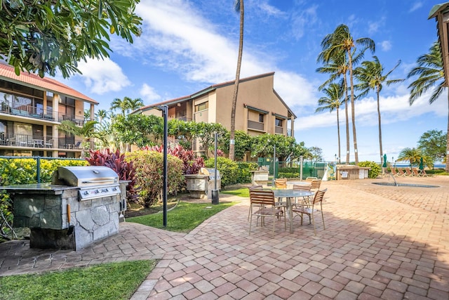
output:
{"label": "upper-floor balcony railing on the red-roofed building at left", "polygon": [[8,115],[16,115],[20,117],[30,117],[34,119],[43,119],[46,121],[62,122],[69,119],[76,125],[83,126],[85,120],[84,117],[74,117],[66,115],[63,112],[55,112],[53,110],[43,110],[42,108],[34,107],[31,105],[21,105],[20,107],[11,108],[9,105],[1,103],[0,112]]}

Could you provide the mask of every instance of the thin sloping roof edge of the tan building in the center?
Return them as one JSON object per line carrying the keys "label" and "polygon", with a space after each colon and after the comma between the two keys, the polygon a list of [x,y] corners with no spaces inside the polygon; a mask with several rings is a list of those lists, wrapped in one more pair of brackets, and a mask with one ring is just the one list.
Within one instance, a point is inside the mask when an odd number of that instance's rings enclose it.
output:
{"label": "thin sloping roof edge of the tan building in the center", "polygon": [[[239,84],[241,84],[242,82],[245,82],[245,81],[250,81],[250,80],[259,79],[259,78],[262,78],[262,77],[273,76],[273,75],[274,75],[274,72],[269,72],[269,73],[259,74],[259,75],[255,75],[255,76],[251,76],[251,77],[242,78],[242,79],[239,80]],[[190,95],[190,96],[182,96],[180,98],[175,98],[175,99],[171,99],[171,100],[165,100],[165,101],[162,101],[162,102],[159,102],[159,103],[146,105],[144,107],[140,107],[140,109],[138,109],[138,110],[135,110],[135,112],[149,110],[152,107],[159,106],[159,105],[170,105],[170,104],[181,103],[181,102],[184,102],[184,101],[187,101],[187,100],[190,100],[190,99],[194,99],[194,98],[199,97],[199,96],[203,96],[206,93],[209,93],[210,91],[214,91],[216,89],[220,89],[220,88],[225,87],[225,86],[234,85],[234,83],[235,83],[235,80],[222,82],[221,84],[213,84],[211,86],[208,86],[206,89],[202,89],[201,91],[197,91],[196,93],[192,93],[192,95]],[[281,96],[279,96],[279,94],[276,93],[276,91],[274,91],[274,89],[273,89],[273,92],[276,95],[276,97],[279,98],[279,100],[281,100],[281,103],[283,103],[283,105],[285,105],[287,107],[287,110],[296,119],[296,115],[293,113],[292,110],[290,110],[290,107],[288,107],[288,105],[282,100]]]}

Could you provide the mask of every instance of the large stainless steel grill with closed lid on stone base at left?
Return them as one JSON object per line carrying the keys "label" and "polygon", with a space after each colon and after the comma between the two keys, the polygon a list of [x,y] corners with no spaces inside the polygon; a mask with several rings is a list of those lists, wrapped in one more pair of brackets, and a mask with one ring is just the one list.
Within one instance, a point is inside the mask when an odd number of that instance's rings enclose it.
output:
{"label": "large stainless steel grill with closed lid on stone base at left", "polygon": [[119,195],[119,176],[108,167],[58,167],[52,185],[76,186],[79,201]]}

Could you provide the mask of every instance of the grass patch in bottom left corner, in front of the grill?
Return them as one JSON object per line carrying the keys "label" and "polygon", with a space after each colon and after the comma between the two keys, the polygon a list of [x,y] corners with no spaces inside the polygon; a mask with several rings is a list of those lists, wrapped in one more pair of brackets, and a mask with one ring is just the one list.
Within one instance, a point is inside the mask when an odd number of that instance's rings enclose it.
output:
{"label": "grass patch in bottom left corner, in front of the grill", "polygon": [[154,266],[156,261],[124,261],[0,277],[0,299],[130,299]]}

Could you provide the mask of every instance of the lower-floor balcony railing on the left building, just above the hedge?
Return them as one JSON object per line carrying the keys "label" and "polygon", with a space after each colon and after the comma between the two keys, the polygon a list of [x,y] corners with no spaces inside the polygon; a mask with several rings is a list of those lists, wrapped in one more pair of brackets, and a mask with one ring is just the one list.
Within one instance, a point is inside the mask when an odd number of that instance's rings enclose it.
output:
{"label": "lower-floor balcony railing on the left building, just above the hedge", "polygon": [[[93,148],[93,142],[91,142]],[[29,136],[26,134],[0,134],[0,147],[40,148],[40,150],[81,150],[81,140],[74,138],[53,138],[51,136]]]}

